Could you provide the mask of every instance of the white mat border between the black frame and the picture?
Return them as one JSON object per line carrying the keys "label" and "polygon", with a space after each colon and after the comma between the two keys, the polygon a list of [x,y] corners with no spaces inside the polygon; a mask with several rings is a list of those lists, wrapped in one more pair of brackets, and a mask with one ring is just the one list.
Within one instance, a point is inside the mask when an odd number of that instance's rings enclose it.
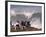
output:
{"label": "white mat border between the black frame and the picture", "polygon": [[[42,6],[42,31],[10,32],[10,5],[34,5]],[[44,33],[44,4],[8,2],[8,35]]]}

